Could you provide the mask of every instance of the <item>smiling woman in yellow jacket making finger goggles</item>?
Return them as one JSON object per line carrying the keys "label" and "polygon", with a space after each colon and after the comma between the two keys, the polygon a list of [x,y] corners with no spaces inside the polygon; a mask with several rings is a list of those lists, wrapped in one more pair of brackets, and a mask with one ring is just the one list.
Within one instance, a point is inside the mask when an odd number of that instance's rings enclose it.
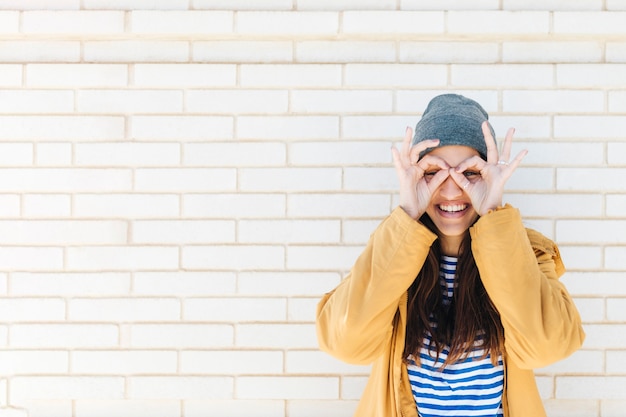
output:
{"label": "smiling woman in yellow jacket making finger goggles", "polygon": [[545,416],[532,369],[583,342],[558,248],[502,205],[526,151],[510,160],[510,129],[498,156],[487,119],[429,103],[392,149],[399,207],[318,304],[321,348],[373,364],[356,416]]}

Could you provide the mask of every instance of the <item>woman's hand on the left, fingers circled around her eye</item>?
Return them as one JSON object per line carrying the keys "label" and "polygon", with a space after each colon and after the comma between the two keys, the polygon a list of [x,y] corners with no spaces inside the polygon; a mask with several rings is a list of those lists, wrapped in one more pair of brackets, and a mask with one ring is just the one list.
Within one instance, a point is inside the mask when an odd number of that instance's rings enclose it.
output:
{"label": "woman's hand on the left, fingers circled around her eye", "polygon": [[439,139],[427,139],[411,147],[413,129],[406,128],[402,149],[391,147],[393,164],[400,182],[400,207],[414,220],[426,211],[433,192],[450,175],[448,164],[441,158],[420,153],[439,144]]}

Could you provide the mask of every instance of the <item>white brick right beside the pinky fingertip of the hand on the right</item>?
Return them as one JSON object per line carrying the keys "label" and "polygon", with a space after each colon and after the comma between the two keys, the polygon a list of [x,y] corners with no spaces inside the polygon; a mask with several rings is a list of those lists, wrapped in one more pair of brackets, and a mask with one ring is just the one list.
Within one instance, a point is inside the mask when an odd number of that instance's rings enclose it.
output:
{"label": "white brick right beside the pinky fingertip of the hand on the right", "polygon": [[583,167],[604,163],[604,144],[599,142],[513,142],[511,155],[528,150],[524,165]]}

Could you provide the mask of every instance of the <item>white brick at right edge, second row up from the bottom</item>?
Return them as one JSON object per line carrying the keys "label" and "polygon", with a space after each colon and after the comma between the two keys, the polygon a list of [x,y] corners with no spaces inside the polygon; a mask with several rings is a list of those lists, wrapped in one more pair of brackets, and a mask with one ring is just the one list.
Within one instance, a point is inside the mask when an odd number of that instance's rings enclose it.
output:
{"label": "white brick at right edge, second row up from the bottom", "polygon": [[564,376],[556,378],[556,398],[623,399],[626,377]]}

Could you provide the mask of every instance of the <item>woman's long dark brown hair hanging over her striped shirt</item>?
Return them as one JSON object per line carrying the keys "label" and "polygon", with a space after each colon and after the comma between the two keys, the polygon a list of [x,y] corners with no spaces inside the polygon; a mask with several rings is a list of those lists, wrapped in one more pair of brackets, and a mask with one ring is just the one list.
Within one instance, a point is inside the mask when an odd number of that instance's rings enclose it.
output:
{"label": "woman's long dark brown hair hanging over her striped shirt", "polygon": [[[439,234],[430,217],[424,214],[420,221]],[[442,368],[467,357],[480,339],[483,357],[491,354],[495,365],[504,345],[504,329],[500,314],[491,302],[480,279],[472,254],[469,231],[459,250],[454,295],[449,306],[443,304],[439,278],[441,246],[439,239],[430,248],[428,257],[408,290],[408,312],[404,358],[413,355],[419,361],[420,349],[425,347],[439,359],[446,345],[450,352]],[[434,322],[434,324],[433,324]],[[430,334],[430,346],[424,338]]]}

